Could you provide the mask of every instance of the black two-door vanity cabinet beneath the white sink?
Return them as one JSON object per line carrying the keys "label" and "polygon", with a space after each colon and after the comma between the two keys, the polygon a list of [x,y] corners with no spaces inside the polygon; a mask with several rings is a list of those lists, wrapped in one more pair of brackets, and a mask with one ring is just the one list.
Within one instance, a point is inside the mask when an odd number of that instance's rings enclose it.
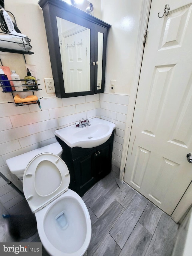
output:
{"label": "black two-door vanity cabinet beneath the white sink", "polygon": [[90,149],[80,147],[70,148],[60,138],[56,137],[63,149],[62,159],[69,169],[69,188],[81,197],[98,180],[110,173],[113,137],[114,130],[105,143]]}

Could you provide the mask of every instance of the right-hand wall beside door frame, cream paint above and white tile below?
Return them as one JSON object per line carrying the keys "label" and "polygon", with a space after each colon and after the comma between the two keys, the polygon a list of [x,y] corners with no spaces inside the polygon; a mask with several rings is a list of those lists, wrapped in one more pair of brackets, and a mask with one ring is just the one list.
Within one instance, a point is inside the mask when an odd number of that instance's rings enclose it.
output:
{"label": "right-hand wall beside door frame, cream paint above and white tile below", "polygon": [[[134,65],[143,1],[102,0],[101,19],[111,24],[107,39],[105,93],[100,95],[101,116],[116,120],[112,168],[119,173],[130,89],[134,78]],[[116,80],[115,93],[110,80]]]}

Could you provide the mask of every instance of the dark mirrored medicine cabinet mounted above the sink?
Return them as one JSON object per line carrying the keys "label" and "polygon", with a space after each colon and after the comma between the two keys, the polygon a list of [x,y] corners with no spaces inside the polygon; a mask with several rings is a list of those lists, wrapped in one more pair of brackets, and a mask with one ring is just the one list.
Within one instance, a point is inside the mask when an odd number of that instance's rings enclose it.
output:
{"label": "dark mirrored medicine cabinet mounted above the sink", "polygon": [[43,9],[56,97],[104,92],[111,25],[62,0],[38,4]]}

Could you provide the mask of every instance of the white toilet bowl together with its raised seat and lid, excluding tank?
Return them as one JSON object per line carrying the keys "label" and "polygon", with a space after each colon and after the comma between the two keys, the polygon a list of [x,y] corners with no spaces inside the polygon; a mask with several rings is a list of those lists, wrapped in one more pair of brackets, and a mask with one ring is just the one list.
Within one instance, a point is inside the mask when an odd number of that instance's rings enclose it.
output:
{"label": "white toilet bowl together with its raised seat and lid, excluding tank", "polygon": [[23,192],[35,213],[39,237],[52,256],[81,256],[91,239],[91,220],[82,198],[68,188],[67,165],[52,153],[41,153],[27,165]]}

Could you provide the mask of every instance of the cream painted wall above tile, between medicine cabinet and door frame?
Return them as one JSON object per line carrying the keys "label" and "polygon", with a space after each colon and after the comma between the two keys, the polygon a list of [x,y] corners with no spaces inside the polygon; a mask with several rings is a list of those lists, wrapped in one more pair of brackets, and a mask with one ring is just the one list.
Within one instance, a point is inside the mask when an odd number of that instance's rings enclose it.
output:
{"label": "cream painted wall above tile, between medicine cabinet and door frame", "polygon": [[102,1],[102,20],[112,25],[107,39],[105,92],[110,93],[110,80],[116,80],[115,94],[130,95],[142,2]]}

